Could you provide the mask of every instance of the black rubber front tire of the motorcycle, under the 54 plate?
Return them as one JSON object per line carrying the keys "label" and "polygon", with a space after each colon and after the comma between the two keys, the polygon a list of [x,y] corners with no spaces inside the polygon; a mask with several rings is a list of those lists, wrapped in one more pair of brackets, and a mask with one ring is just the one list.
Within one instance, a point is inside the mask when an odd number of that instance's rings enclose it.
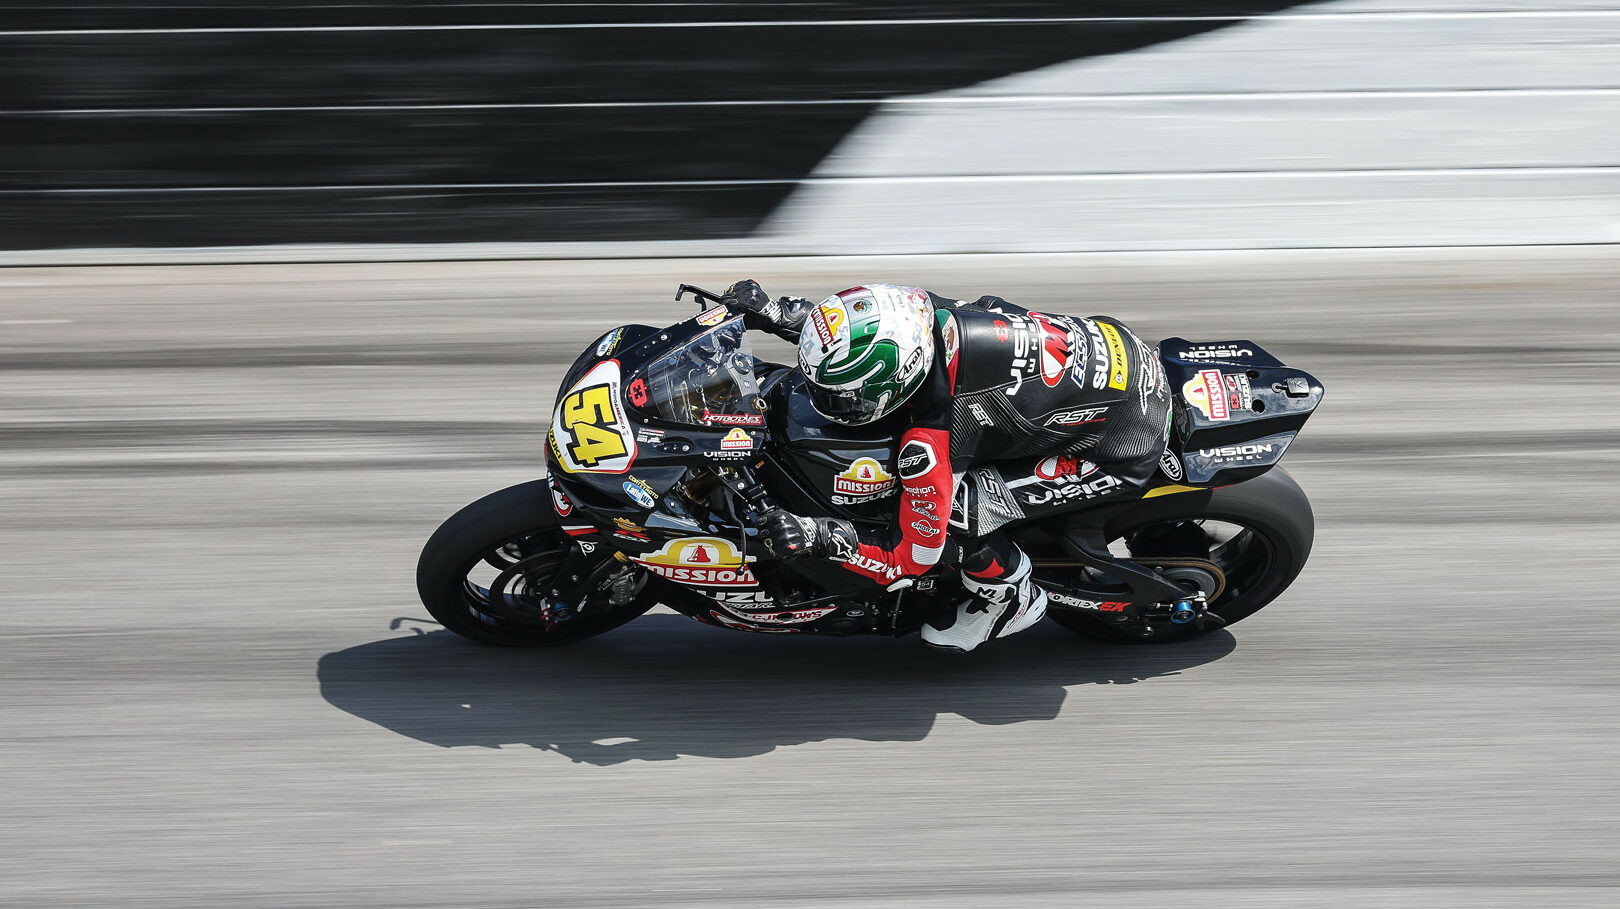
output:
{"label": "black rubber front tire of the motorcycle, under the 54 plate", "polygon": [[645,598],[619,608],[593,603],[577,617],[549,629],[480,609],[468,588],[468,572],[488,554],[518,540],[531,548],[552,546],[562,551],[572,546],[557,523],[544,480],[491,493],[439,525],[416,561],[416,595],[421,596],[421,604],[446,629],[478,643],[499,647],[573,643],[612,630],[651,609],[653,603],[643,601]]}

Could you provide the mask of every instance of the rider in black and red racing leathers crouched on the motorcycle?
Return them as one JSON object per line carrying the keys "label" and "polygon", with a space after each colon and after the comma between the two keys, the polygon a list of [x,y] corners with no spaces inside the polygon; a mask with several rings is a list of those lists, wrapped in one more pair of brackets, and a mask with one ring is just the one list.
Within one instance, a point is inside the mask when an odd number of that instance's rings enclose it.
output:
{"label": "rider in black and red racing leathers crouched on the motorcycle", "polygon": [[778,557],[825,557],[897,588],[941,562],[954,525],[972,540],[961,557],[970,598],[923,625],[930,647],[969,651],[1038,622],[1047,593],[996,527],[1139,488],[1165,449],[1163,368],[1118,321],[889,284],[818,305],[771,300],[753,280],[726,297],[750,327],[799,344],[810,402],[828,420],[862,425],[906,412],[894,530],[857,531],[782,509],[760,530]]}

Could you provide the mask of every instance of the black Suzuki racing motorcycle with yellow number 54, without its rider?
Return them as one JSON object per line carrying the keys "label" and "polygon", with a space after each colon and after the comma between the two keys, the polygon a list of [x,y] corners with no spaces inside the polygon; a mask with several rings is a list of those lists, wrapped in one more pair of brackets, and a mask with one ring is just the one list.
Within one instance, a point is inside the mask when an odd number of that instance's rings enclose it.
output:
{"label": "black Suzuki racing motorcycle with yellow number 54, without its rider", "polygon": [[[544,647],[614,629],[664,604],[747,632],[904,635],[966,596],[941,564],[888,587],[813,559],[776,561],[755,522],[773,506],[894,522],[901,426],[823,418],[797,368],[760,360],[742,309],[680,285],[697,316],[620,326],[562,379],[548,476],[467,506],[428,540],[423,604],[481,643]],[[1170,442],[1134,494],[1087,504],[1079,457],[1034,476],[980,467],[957,483],[951,528],[1004,531],[1030,554],[1048,616],[1128,643],[1183,640],[1252,616],[1311,554],[1314,519],[1277,468],[1322,384],[1251,340],[1158,347]],[[1051,517],[1022,506],[1069,502]]]}

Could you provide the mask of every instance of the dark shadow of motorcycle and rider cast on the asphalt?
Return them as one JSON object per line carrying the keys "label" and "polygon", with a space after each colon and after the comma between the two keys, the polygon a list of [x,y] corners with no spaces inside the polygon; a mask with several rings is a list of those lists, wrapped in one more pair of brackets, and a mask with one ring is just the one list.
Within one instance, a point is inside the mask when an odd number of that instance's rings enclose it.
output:
{"label": "dark shadow of motorcycle and rider cast on the asphalt", "polygon": [[1042,624],[948,656],[915,638],[758,635],[653,614],[573,647],[505,650],[420,625],[322,656],[321,695],[431,745],[526,744],[595,765],[737,758],[826,739],[915,742],[941,713],[1048,721],[1071,685],[1170,676],[1236,648],[1223,630],[1108,647]]}

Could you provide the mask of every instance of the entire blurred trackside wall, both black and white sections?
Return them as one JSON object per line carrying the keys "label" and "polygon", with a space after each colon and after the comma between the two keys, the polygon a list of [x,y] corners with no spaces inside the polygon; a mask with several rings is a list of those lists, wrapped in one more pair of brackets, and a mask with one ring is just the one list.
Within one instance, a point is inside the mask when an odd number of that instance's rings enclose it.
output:
{"label": "entire blurred trackside wall, both black and white sections", "polygon": [[0,92],[0,250],[1620,240],[1620,2],[6,0]]}

